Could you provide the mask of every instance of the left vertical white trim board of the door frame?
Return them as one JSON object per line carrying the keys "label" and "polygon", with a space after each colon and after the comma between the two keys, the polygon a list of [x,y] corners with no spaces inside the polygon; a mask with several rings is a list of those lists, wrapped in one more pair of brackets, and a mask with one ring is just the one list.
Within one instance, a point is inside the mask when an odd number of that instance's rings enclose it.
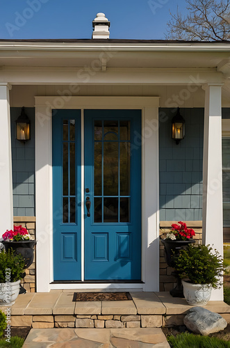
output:
{"label": "left vertical white trim board of the door frame", "polygon": [[35,107],[37,291],[49,292],[53,269],[51,109]]}

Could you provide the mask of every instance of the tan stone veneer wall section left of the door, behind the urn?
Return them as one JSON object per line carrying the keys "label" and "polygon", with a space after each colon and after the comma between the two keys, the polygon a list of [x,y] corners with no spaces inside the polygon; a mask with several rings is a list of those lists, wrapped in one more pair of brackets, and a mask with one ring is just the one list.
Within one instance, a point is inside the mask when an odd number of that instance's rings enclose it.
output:
{"label": "tan stone veneer wall section left of the door, behind the urn", "polygon": [[[25,227],[29,234],[31,235],[32,239],[36,239],[36,225],[35,225],[36,218],[35,216],[14,216],[14,224],[19,226],[22,225],[22,227]],[[35,248],[34,247],[34,257],[33,257],[33,263],[31,264],[28,269],[26,269],[26,276],[24,280],[22,280],[22,285],[26,289],[27,292],[35,292],[36,285],[35,285]]]}

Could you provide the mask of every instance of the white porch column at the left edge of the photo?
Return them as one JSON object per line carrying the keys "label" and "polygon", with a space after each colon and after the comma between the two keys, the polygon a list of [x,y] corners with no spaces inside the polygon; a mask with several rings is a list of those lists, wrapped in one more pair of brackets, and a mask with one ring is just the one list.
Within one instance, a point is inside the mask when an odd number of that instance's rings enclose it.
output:
{"label": "white porch column at the left edge of the photo", "polygon": [[[13,228],[13,183],[10,136],[10,84],[0,82],[0,231]],[[0,235],[1,237],[1,235]]]}

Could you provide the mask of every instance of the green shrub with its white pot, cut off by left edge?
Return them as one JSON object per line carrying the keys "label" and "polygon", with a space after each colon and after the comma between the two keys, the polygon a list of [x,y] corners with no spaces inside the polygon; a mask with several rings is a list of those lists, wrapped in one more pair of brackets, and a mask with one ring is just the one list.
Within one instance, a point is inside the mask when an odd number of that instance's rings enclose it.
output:
{"label": "green shrub with its white pot, cut off by left edge", "polygon": [[15,303],[24,268],[25,262],[21,254],[15,253],[13,249],[0,253],[0,306]]}

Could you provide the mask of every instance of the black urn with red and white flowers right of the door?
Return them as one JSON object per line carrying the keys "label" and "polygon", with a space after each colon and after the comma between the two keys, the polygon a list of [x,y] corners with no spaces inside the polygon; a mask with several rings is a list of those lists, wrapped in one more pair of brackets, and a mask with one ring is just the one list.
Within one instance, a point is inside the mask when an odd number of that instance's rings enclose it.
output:
{"label": "black urn with red and white flowers right of the door", "polygon": [[[195,240],[192,239],[195,236],[195,231],[192,228],[188,228],[186,223],[179,221],[177,223],[172,223],[170,232],[164,233],[161,239],[161,242],[164,245],[165,251],[165,262],[168,266],[174,268],[174,256],[178,255],[181,248],[185,248],[190,243],[195,243]],[[176,276],[176,287],[170,290],[170,294],[173,297],[183,297],[183,287],[181,284],[181,278],[178,273],[175,271],[174,276]]]}

